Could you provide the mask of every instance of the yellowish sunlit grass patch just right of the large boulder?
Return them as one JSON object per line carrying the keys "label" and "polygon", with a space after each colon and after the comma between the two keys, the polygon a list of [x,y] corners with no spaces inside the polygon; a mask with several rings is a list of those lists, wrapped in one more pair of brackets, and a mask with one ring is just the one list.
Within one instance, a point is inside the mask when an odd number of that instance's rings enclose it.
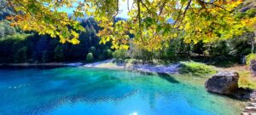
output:
{"label": "yellowish sunlit grass patch just right of the large boulder", "polygon": [[249,71],[241,71],[239,72],[238,85],[241,88],[256,89],[256,79],[251,77]]}

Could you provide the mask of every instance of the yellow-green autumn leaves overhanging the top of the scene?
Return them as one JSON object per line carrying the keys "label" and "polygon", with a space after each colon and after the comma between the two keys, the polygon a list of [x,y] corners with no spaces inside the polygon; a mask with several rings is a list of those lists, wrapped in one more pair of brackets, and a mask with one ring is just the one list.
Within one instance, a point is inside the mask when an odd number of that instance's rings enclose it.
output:
{"label": "yellow-green autumn leaves overhanging the top of the scene", "polygon": [[[60,37],[61,43],[79,43],[84,31],[77,18],[94,17],[102,27],[100,43],[112,42],[113,49],[128,49],[130,43],[141,49],[168,47],[172,38],[185,43],[209,43],[252,31],[256,18],[236,16],[242,0],[133,0],[127,20],[115,20],[120,0],[5,0],[15,14],[8,16],[13,26]],[[129,3],[129,1],[128,1]],[[129,5],[128,5],[129,6]],[[61,12],[66,7],[73,15]],[[132,36],[131,36],[132,35]]]}

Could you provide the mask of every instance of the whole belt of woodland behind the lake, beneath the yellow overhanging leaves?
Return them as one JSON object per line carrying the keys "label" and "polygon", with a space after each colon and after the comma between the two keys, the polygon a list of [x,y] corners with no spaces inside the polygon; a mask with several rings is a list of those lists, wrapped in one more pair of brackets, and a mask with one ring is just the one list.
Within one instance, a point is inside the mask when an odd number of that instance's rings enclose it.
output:
{"label": "whole belt of woodland behind the lake, beneath the yellow overhanging leaves", "polygon": [[[254,17],[255,9],[243,9],[236,13],[237,18]],[[49,35],[38,35],[37,32],[22,31],[18,27],[10,26],[5,17],[12,14],[10,9],[0,13],[0,62],[71,62],[96,61],[109,58],[134,58],[140,60],[181,60],[197,59],[205,62],[243,63],[245,55],[254,53],[254,32],[245,32],[241,36],[218,39],[210,43],[202,40],[197,43],[185,43],[183,37],[168,41],[168,46],[162,44],[161,49],[141,49],[137,44],[130,43],[130,48],[111,49],[112,43],[99,43],[101,38],[96,34],[101,27],[97,26],[93,18],[80,20],[85,32],[79,32],[79,44],[60,43],[60,39]],[[122,19],[117,19],[122,20]],[[130,34],[130,37],[133,37]],[[201,57],[201,58],[198,58]]]}

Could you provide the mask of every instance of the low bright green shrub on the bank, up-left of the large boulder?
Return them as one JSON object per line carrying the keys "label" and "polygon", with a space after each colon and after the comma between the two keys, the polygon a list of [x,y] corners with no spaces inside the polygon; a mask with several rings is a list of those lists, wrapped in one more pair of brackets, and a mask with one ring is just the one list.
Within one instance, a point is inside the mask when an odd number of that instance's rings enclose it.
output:
{"label": "low bright green shrub on the bank, up-left of the large boulder", "polygon": [[216,73],[214,66],[207,66],[204,63],[195,61],[183,61],[181,67],[178,70],[180,73],[192,74],[192,75],[207,75]]}

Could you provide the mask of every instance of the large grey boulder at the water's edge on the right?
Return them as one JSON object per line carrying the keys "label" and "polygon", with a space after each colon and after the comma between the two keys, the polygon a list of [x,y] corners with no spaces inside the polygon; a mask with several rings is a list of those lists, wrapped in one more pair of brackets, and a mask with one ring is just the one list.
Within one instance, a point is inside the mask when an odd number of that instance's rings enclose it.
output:
{"label": "large grey boulder at the water's edge on the right", "polygon": [[207,91],[222,95],[231,95],[238,89],[239,75],[237,72],[218,72],[205,83]]}

